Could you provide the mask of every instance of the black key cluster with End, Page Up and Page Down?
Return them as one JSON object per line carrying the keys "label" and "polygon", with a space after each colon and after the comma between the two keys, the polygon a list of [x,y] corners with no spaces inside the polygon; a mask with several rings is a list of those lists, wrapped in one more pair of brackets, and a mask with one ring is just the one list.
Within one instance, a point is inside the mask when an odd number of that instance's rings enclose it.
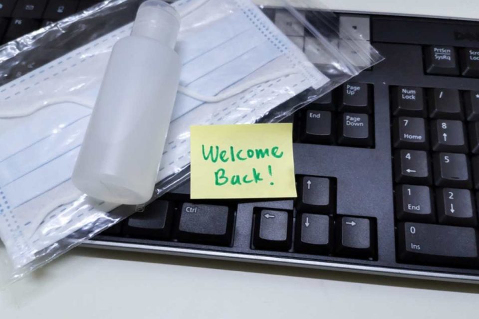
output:
{"label": "black key cluster with End, Page Up and Page Down", "polygon": [[296,115],[299,141],[304,143],[374,146],[372,86],[346,83]]}

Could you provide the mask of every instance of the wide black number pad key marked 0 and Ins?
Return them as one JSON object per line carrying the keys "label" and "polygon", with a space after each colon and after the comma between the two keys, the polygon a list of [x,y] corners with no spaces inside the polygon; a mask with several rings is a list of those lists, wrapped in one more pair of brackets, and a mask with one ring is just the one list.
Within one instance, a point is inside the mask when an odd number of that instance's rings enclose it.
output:
{"label": "wide black number pad key marked 0 and Ins", "polygon": [[471,227],[399,223],[398,257],[406,263],[477,265],[478,234]]}

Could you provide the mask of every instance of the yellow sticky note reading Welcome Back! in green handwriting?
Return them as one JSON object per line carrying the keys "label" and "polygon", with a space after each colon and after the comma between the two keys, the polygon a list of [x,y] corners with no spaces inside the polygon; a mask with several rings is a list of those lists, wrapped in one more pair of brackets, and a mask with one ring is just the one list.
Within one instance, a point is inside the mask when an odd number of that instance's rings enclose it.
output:
{"label": "yellow sticky note reading Welcome Back! in green handwriting", "polygon": [[191,198],[296,197],[292,124],[191,127]]}

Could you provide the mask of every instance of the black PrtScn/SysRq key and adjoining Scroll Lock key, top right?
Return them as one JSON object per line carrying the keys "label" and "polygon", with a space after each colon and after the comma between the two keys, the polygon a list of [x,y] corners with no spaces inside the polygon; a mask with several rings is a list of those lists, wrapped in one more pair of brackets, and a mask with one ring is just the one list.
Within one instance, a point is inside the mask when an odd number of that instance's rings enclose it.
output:
{"label": "black PrtScn/SysRq key and adjoining Scroll Lock key, top right", "polygon": [[479,78],[479,48],[431,45],[424,56],[426,74]]}

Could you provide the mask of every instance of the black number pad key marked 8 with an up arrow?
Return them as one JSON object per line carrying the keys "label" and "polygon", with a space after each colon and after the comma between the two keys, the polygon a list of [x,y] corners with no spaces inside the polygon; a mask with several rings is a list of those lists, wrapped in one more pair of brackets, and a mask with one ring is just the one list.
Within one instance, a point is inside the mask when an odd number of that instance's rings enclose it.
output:
{"label": "black number pad key marked 8 with an up arrow", "polygon": [[431,143],[433,150],[437,152],[468,153],[466,126],[456,120],[433,120]]}

